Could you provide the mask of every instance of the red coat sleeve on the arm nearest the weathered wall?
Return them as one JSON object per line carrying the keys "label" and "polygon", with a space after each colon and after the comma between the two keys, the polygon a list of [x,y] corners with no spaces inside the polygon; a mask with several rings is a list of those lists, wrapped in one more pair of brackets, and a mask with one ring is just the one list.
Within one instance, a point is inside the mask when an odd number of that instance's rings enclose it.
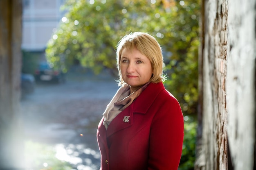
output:
{"label": "red coat sleeve on the arm nearest the weathered wall", "polygon": [[177,170],[184,138],[183,114],[173,96],[159,100],[150,128],[148,170]]}

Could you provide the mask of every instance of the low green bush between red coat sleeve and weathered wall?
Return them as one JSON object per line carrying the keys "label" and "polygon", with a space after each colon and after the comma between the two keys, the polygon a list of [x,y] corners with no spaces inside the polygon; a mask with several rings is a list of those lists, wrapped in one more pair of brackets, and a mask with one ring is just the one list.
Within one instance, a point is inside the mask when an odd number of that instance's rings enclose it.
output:
{"label": "low green bush between red coat sleeve and weathered wall", "polygon": [[188,120],[184,123],[184,142],[179,170],[193,170],[195,162],[197,123],[190,116],[185,116],[186,118]]}

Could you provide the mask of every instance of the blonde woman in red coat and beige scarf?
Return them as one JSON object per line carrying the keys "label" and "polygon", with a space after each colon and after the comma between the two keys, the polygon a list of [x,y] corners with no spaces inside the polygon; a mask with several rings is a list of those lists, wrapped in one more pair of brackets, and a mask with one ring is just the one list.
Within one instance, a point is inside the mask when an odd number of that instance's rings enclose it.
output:
{"label": "blonde woman in red coat and beige scarf", "polygon": [[177,170],[184,120],[162,83],[162,49],[148,33],[117,45],[119,86],[99,122],[101,170]]}

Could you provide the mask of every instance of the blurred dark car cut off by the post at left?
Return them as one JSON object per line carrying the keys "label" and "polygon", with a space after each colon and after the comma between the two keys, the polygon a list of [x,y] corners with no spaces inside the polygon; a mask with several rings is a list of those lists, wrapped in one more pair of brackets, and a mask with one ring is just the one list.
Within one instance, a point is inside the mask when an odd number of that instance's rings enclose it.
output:
{"label": "blurred dark car cut off by the post at left", "polygon": [[32,74],[21,73],[21,96],[31,94],[35,89],[35,78]]}

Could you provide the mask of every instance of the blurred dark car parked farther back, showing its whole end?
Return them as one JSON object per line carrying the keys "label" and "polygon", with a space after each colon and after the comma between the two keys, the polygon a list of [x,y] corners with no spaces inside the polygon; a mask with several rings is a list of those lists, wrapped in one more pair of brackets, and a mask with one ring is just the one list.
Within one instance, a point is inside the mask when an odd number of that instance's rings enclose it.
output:
{"label": "blurred dark car parked farther back, showing its whole end", "polygon": [[54,70],[47,62],[42,62],[38,65],[38,69],[35,71],[35,78],[36,82],[65,82],[65,74],[60,70]]}

